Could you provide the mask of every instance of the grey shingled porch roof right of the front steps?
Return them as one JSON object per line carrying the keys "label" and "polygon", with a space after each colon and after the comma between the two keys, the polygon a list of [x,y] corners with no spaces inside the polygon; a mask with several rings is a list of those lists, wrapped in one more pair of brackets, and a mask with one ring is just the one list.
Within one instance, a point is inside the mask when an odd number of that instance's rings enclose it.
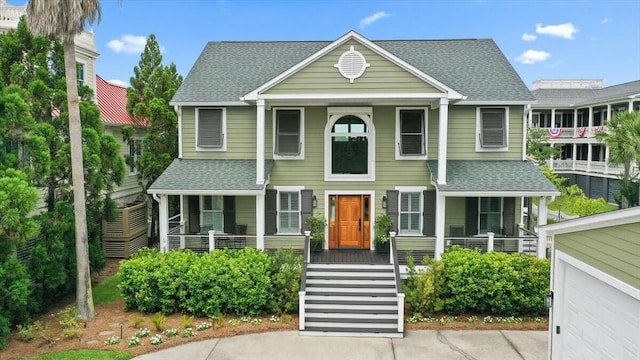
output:
{"label": "grey shingled porch roof right of the front steps", "polygon": [[[438,161],[427,161],[432,180]],[[531,161],[447,160],[447,183],[437,184],[445,196],[555,196],[560,191]]]}

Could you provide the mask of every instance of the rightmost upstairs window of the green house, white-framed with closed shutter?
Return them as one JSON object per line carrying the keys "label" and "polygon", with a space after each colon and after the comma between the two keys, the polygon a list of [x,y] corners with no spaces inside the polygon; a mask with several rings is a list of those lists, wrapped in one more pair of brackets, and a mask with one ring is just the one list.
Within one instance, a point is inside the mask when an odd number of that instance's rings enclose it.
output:
{"label": "rightmost upstairs window of the green house, white-framed with closed shutter", "polygon": [[507,151],[508,108],[478,108],[476,151]]}

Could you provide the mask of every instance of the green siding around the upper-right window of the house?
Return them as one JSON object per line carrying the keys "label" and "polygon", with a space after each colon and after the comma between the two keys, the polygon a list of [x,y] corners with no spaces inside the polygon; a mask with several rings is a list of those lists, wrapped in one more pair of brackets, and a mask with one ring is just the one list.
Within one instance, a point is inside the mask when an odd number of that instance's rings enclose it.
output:
{"label": "green siding around the upper-right window of the house", "polygon": [[[509,107],[509,151],[476,152],[477,106],[450,106],[447,158],[451,160],[522,159],[522,106]],[[437,119],[437,113],[435,114]],[[437,131],[437,127],[436,127]],[[435,134],[437,139],[437,133]],[[437,150],[436,150],[437,151]],[[437,153],[436,153],[437,155]],[[433,159],[434,157],[430,157]]]}

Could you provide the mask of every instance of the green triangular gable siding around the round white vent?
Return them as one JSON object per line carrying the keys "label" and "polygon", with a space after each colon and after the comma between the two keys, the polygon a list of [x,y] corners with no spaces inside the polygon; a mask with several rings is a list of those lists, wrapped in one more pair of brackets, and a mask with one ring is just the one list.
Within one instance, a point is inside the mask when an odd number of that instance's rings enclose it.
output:
{"label": "green triangular gable siding around the round white vent", "polygon": [[[370,66],[350,83],[333,65],[350,46],[364,55]],[[441,93],[398,65],[374,53],[355,40],[339,46],[329,54],[307,65],[289,78],[265,91],[265,94],[299,93]]]}

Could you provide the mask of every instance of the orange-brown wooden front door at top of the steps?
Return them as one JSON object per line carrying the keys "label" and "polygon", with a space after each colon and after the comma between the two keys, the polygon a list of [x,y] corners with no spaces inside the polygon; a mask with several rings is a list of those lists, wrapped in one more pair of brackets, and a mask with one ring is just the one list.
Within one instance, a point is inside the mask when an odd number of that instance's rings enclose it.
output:
{"label": "orange-brown wooden front door at top of the steps", "polygon": [[330,197],[329,247],[338,249],[369,248],[369,195],[335,195]]}

